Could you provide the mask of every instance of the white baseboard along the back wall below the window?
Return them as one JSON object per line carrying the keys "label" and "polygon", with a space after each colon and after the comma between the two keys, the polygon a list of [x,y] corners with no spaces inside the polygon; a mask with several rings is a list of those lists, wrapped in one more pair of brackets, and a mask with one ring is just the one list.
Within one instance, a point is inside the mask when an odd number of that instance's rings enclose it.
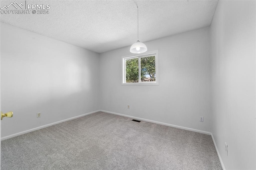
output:
{"label": "white baseboard along the back wall below the window", "polygon": [[105,112],[105,113],[111,113],[111,114],[114,114],[114,115],[120,115],[120,116],[124,116],[124,117],[130,117],[130,118],[132,118],[132,119],[138,119],[138,120],[141,120],[141,121],[146,121],[146,122],[156,123],[156,124],[160,124],[160,125],[166,125],[166,126],[169,126],[169,127],[181,128],[181,129],[184,129],[184,130],[189,130],[189,131],[193,131],[193,132],[199,132],[199,133],[203,133],[203,134],[212,135],[212,133],[210,133],[210,132],[206,132],[206,131],[203,131],[203,130],[197,130],[197,129],[194,129],[194,128],[181,127],[181,126],[172,125],[172,124],[168,124],[168,123],[162,123],[162,122],[158,122],[158,121],[152,121],[152,120],[148,120],[148,119],[143,119],[143,118],[134,117],[134,116],[129,116],[129,115],[123,115],[123,114],[120,114],[120,113],[114,113],[114,112],[109,112],[109,111],[104,111],[104,110],[100,110],[100,111],[101,111],[101,112]]}

